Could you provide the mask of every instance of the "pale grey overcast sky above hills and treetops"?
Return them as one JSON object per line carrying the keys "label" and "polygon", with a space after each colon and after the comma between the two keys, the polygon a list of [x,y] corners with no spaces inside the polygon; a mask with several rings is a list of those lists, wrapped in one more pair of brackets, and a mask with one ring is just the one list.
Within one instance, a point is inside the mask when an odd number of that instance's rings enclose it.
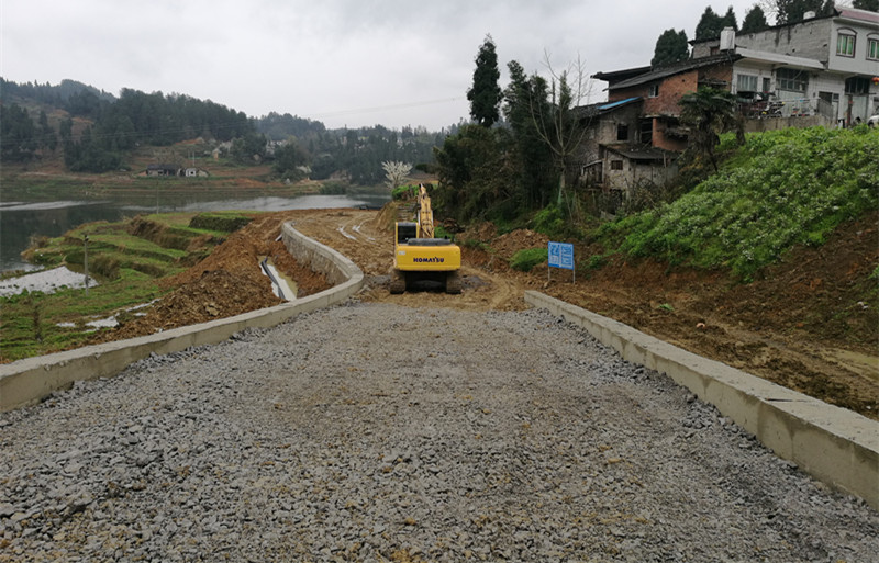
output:
{"label": "pale grey overcast sky above hills and treetops", "polygon": [[545,54],[558,70],[579,56],[588,75],[648,65],[663,31],[692,38],[708,5],[732,5],[741,24],[756,1],[0,0],[0,75],[178,92],[331,128],[438,131],[468,117],[486,34],[503,88],[507,63],[545,75]]}

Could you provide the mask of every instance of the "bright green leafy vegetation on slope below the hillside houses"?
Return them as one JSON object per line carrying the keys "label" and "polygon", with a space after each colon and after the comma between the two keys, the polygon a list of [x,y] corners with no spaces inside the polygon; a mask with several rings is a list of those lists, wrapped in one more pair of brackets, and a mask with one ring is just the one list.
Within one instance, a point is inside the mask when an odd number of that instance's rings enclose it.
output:
{"label": "bright green leafy vegetation on slope below the hillside houses", "polygon": [[867,127],[753,134],[735,162],[672,203],[604,225],[599,239],[749,280],[879,205],[879,134]]}

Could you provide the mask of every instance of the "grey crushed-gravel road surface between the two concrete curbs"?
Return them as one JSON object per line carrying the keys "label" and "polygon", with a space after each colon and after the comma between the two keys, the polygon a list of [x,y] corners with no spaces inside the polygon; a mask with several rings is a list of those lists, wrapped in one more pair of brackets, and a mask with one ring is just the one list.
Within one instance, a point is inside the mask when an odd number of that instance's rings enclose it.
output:
{"label": "grey crushed-gravel road surface between the two concrete curbs", "polygon": [[0,415],[0,561],[868,562],[879,514],[543,311],[352,301]]}

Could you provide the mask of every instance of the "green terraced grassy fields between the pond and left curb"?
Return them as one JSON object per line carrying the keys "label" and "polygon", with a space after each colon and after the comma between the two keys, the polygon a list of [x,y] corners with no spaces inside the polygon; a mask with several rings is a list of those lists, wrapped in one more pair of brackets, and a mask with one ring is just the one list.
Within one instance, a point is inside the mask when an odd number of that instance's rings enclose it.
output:
{"label": "green terraced grassy fields between the pond and left curb", "polygon": [[31,249],[31,261],[81,271],[82,236],[88,235],[89,273],[101,284],[89,290],[88,299],[82,289],[0,297],[0,361],[75,347],[90,336],[87,322],[133,314],[125,309],[167,293],[159,281],[207,256],[231,230],[223,225],[240,226],[242,218],[235,212],[201,214],[200,218],[216,225],[208,229],[190,227],[193,216],[176,213],[90,223],[42,240],[38,248]]}

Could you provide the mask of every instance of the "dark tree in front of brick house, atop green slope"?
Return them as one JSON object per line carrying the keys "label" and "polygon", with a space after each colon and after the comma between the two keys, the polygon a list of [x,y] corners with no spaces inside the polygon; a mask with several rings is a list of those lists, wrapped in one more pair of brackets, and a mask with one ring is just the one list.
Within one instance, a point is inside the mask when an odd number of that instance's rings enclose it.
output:
{"label": "dark tree in front of brick house, atop green slope", "polygon": [[680,100],[680,121],[690,127],[689,145],[697,154],[708,157],[715,172],[714,147],[720,143],[720,134],[741,127],[736,103],[731,92],[706,87]]}

